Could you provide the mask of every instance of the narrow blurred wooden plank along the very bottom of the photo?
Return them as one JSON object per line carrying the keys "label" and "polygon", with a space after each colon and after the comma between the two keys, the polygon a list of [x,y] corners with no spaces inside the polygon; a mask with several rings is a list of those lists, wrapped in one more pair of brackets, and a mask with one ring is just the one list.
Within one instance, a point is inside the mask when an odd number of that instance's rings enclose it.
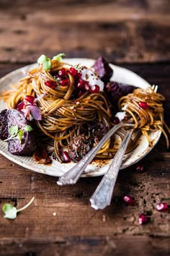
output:
{"label": "narrow blurred wooden plank along the very bottom of the photo", "polygon": [[[1,256],[83,256],[83,255],[101,255],[101,256],[120,256],[133,255],[140,256],[168,256],[169,238],[153,238],[147,236],[99,236],[99,237],[56,237],[52,241],[44,239],[42,241],[17,241],[6,242],[4,247],[1,242]],[[154,251],[153,251],[154,248]]]}

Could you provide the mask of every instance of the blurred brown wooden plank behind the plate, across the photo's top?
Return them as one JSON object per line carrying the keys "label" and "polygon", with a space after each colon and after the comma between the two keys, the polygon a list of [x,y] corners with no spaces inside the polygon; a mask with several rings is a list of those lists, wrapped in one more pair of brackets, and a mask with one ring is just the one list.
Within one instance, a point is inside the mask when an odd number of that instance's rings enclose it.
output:
{"label": "blurred brown wooden plank behind the plate, across the photo's top", "polygon": [[12,3],[4,1],[0,8],[1,61],[35,61],[59,52],[104,55],[117,63],[169,60],[168,0]]}

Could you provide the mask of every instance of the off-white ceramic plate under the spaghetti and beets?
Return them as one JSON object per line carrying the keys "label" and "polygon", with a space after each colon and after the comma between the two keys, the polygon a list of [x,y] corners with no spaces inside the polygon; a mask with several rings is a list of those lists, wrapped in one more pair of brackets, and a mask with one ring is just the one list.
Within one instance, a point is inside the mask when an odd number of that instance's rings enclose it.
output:
{"label": "off-white ceramic plate under the spaghetti and beets", "polygon": [[[94,64],[94,60],[92,59],[66,59],[66,62],[68,62],[69,64],[81,63],[86,67],[91,67]],[[16,83],[20,78],[24,77],[25,73],[28,70],[35,68],[36,65],[37,64],[32,64],[21,69],[17,69],[9,74],[6,74],[5,77],[2,77],[0,80],[0,93],[4,90],[8,90],[11,84]],[[135,85],[139,88],[147,88],[149,85],[146,80],[143,80],[143,78],[139,77],[137,74],[131,72],[128,69],[117,67],[112,64],[110,64],[110,67],[112,67],[112,69],[114,70],[112,80],[115,80],[117,82],[124,82],[129,85]],[[0,111],[4,108],[6,108],[6,103],[4,103],[4,101],[0,101]],[[160,136],[160,131],[151,133],[151,140],[153,140],[153,145],[156,145]],[[121,168],[131,166],[133,163],[136,163],[141,158],[143,158],[151,150],[152,148],[148,146],[146,137],[141,136],[138,147],[135,148],[135,150],[133,150],[133,152],[131,152],[130,154],[125,155]],[[75,163],[59,163],[55,160],[53,160],[51,165],[42,165],[40,163],[35,163],[32,157],[12,155],[11,153],[9,153],[7,150],[7,143],[3,141],[0,141],[0,153],[12,162],[19,164],[19,166],[23,166],[24,168],[27,168],[31,171],[36,171],[40,174],[48,174],[51,176],[61,176],[75,165]],[[107,171],[109,163],[110,161],[94,161],[86,168],[83,176],[103,175]]]}

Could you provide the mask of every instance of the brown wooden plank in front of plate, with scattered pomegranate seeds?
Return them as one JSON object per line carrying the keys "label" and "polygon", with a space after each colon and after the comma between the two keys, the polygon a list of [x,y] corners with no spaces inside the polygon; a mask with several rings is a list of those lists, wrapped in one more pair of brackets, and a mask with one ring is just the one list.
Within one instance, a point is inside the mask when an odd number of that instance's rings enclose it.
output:
{"label": "brown wooden plank in front of plate, with scattered pomegranate seeds", "polygon": [[[21,207],[35,196],[30,208],[23,211],[15,221],[0,218],[0,239],[45,239],[47,232],[51,238],[55,237],[56,232],[63,237],[68,232],[70,236],[169,236],[169,213],[161,214],[155,210],[157,202],[170,201],[170,158],[169,153],[164,152],[165,149],[161,150],[163,146],[164,143],[159,144],[141,161],[145,166],[143,174],[136,173],[136,166],[120,172],[112,206],[101,211],[94,211],[89,205],[89,197],[101,178],[81,179],[76,186],[58,187],[57,178],[26,171],[0,156],[1,205],[10,201],[11,197],[17,197],[20,198],[18,207]],[[127,193],[135,197],[132,207],[126,207],[121,200]],[[138,214],[143,212],[151,216],[151,223],[140,227]]]}

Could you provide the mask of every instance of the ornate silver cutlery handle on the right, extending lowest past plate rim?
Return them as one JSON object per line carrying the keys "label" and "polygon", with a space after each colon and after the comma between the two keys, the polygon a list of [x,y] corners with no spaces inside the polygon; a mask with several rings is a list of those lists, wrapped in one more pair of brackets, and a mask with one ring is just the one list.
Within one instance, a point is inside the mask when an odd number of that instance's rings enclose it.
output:
{"label": "ornate silver cutlery handle on the right, extending lowest past plate rim", "polygon": [[95,210],[104,209],[107,205],[110,205],[112,199],[112,192],[115,187],[117,175],[120,170],[122,158],[125,155],[125,150],[128,147],[128,142],[133,134],[133,129],[130,129],[125,135],[119,150],[117,151],[115,158],[113,159],[107,173],[103,176],[102,181],[99,183],[94,194],[91,196],[91,207]]}

